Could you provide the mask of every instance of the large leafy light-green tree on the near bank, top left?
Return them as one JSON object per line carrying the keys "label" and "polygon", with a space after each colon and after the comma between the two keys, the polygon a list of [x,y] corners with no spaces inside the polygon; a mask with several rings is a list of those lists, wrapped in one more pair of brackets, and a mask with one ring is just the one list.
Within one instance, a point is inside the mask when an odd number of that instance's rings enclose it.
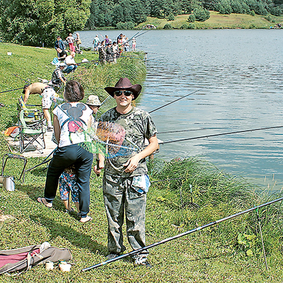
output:
{"label": "large leafy light-green tree on the near bank, top left", "polygon": [[0,29],[6,41],[52,46],[56,34],[83,29],[91,0],[0,0]]}

